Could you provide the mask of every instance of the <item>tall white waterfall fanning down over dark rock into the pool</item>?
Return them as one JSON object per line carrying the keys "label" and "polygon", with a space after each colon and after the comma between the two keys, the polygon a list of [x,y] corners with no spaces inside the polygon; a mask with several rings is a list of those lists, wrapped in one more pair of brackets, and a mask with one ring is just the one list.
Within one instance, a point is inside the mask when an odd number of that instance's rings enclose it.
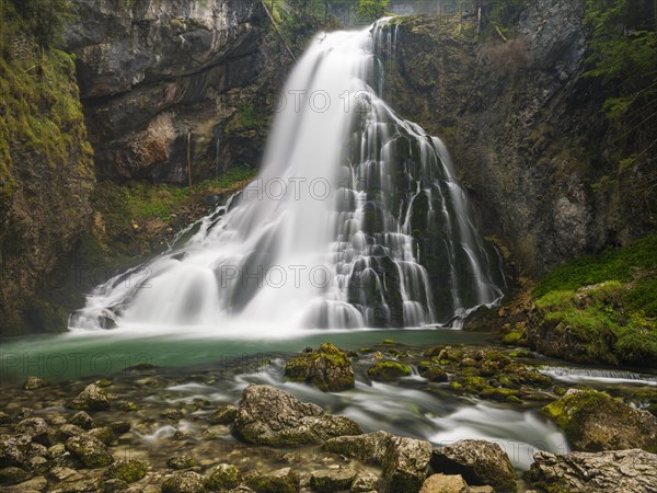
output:
{"label": "tall white waterfall fanning down over dark rock into the pool", "polygon": [[498,299],[445,146],[372,89],[383,91],[382,45],[394,54],[387,20],[318,36],[257,180],[148,264],[145,283],[96,288],[72,325],[458,324]]}

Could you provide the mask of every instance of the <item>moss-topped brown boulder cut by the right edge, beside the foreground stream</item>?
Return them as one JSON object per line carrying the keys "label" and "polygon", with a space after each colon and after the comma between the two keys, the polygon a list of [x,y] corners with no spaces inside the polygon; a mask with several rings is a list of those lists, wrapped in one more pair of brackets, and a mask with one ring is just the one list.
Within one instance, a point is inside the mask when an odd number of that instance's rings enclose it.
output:
{"label": "moss-topped brown boulder cut by the right edge, beside the foreground stream", "polygon": [[576,450],[657,451],[657,417],[593,390],[572,389],[543,410]]}

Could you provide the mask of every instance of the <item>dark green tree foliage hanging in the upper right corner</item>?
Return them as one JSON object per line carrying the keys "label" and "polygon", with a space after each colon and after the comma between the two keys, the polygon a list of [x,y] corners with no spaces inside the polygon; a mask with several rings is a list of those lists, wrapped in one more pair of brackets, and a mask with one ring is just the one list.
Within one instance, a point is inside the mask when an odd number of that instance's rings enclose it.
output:
{"label": "dark green tree foliage hanging in the upper right corner", "polygon": [[657,186],[657,2],[588,0],[586,23],[593,30],[587,76],[602,85],[601,111],[620,135],[618,174],[600,185],[646,167],[637,186],[648,196]]}

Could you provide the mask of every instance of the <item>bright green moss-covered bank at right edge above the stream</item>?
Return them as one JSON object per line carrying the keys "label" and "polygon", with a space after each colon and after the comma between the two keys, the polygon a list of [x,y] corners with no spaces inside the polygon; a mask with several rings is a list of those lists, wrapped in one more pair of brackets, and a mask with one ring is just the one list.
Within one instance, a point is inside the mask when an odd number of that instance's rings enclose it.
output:
{"label": "bright green moss-covered bank at right edge above the stream", "polygon": [[542,323],[579,341],[590,360],[657,362],[657,234],[563,265],[537,286]]}

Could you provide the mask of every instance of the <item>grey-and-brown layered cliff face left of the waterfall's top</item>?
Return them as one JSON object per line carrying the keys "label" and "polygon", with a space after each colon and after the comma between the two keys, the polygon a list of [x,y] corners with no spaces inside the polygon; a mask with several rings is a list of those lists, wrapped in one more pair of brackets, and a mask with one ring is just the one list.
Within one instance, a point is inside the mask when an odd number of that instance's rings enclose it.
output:
{"label": "grey-and-brown layered cliff face left of the waterfall's top", "polygon": [[186,183],[188,161],[194,180],[256,163],[286,68],[260,1],[73,3],[66,41],[100,180]]}

